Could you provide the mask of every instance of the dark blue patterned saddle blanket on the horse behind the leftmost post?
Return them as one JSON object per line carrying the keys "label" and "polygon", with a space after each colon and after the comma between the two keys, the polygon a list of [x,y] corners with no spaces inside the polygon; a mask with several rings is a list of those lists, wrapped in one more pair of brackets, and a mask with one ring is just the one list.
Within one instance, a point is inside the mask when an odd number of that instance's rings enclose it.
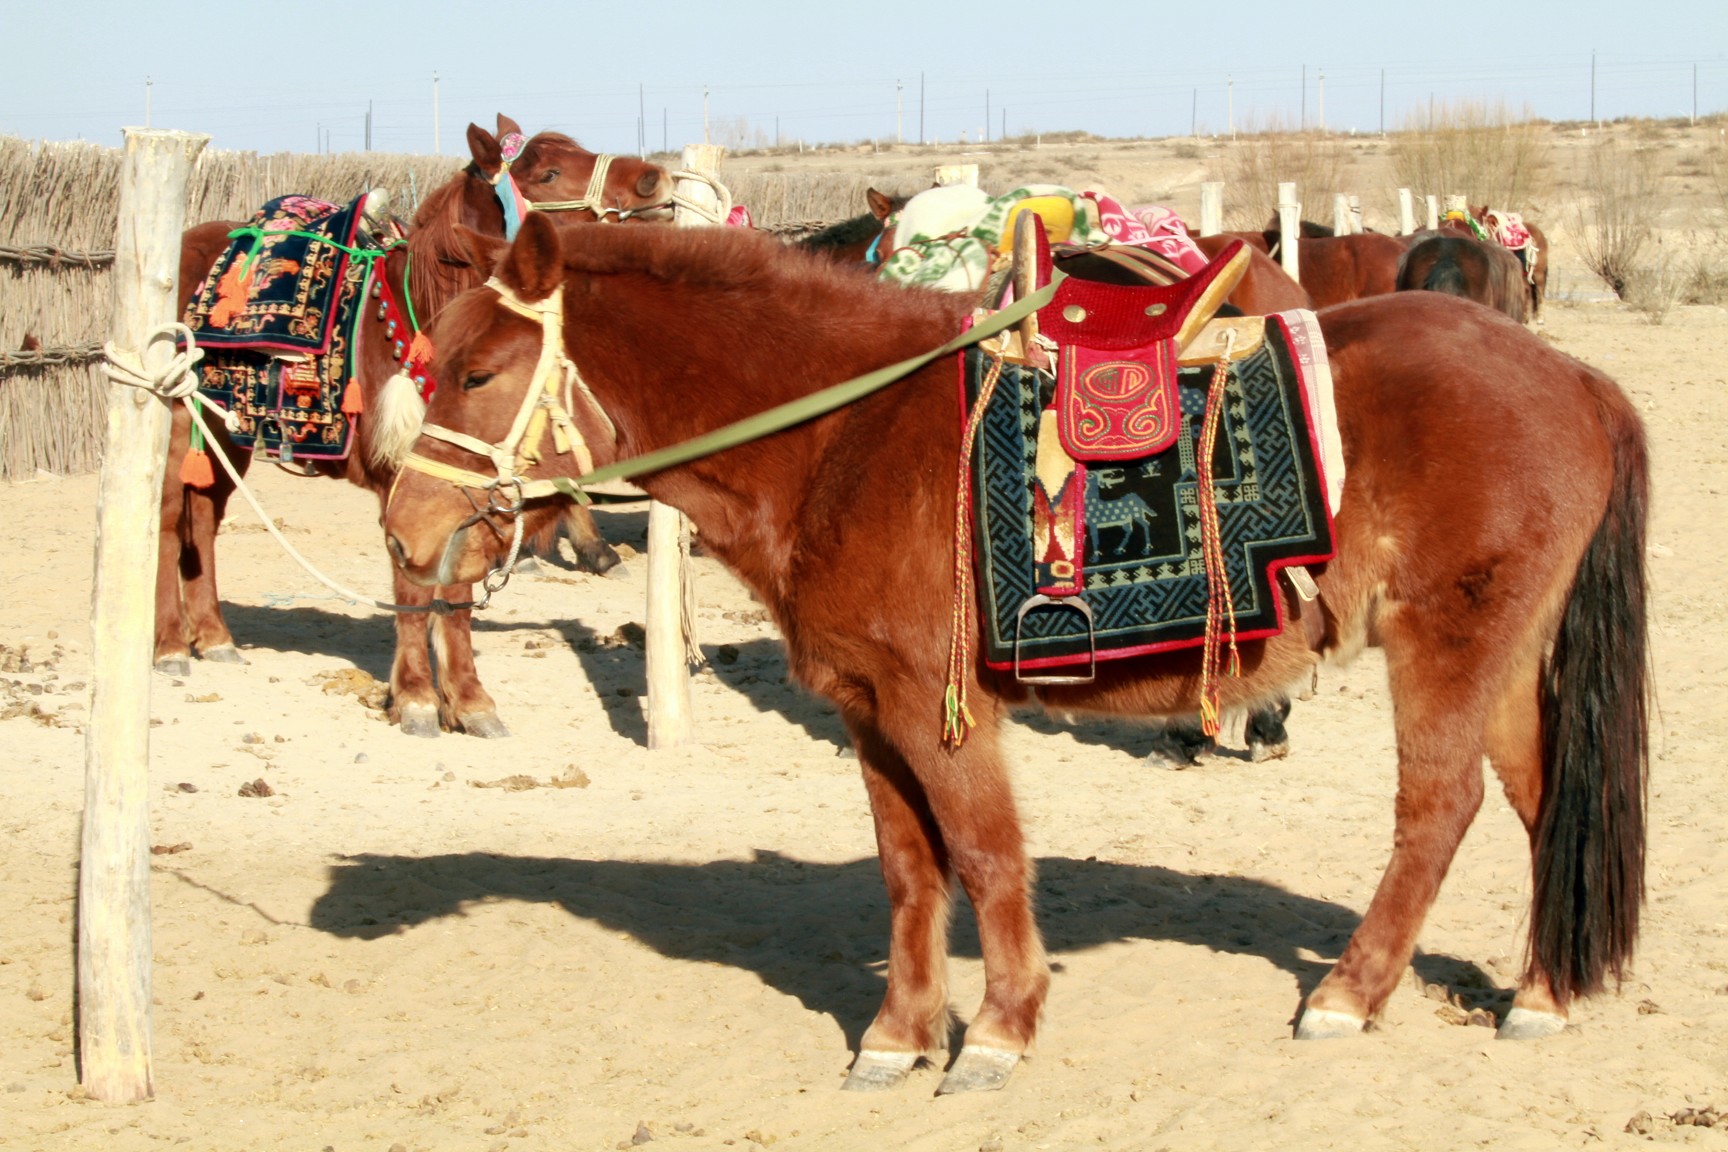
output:
{"label": "dark blue patterned saddle blanket on the horse behind the leftmost post", "polygon": [[302,195],[264,204],[187,306],[185,323],[206,349],[199,392],[226,413],[237,447],[290,461],[347,458],[353,344],[372,271],[365,254],[375,252],[363,247],[372,237],[361,206]]}

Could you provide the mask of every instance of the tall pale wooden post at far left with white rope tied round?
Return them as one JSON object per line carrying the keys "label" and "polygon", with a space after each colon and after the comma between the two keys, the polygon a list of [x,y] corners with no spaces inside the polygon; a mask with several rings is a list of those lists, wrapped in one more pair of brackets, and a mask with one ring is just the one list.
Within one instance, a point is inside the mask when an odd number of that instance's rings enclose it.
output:
{"label": "tall pale wooden post at far left with white rope tied round", "polygon": [[[159,370],[173,340],[145,347],[176,318],[187,180],[209,136],[126,130],[114,252],[118,349]],[[85,1092],[130,1104],[150,1073],[150,648],[157,516],[168,459],[168,402],[109,385],[90,592],[90,725],[78,858],[78,1045]]]}

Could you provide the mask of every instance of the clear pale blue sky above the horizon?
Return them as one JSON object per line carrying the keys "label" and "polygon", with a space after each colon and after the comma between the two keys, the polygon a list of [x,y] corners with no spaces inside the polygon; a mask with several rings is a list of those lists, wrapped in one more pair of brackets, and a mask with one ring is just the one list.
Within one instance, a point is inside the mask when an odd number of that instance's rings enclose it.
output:
{"label": "clear pale blue sky above the horizon", "polygon": [[1585,119],[1591,52],[1604,119],[1688,114],[1693,69],[1699,112],[1728,111],[1728,0],[0,0],[0,135],[118,143],[149,78],[154,126],[259,152],[311,152],[323,131],[359,149],[368,102],[375,149],[432,152],[434,73],[449,155],[498,111],[596,150],[634,150],[641,112],[650,149],[700,142],[705,88],[731,143],[892,140],[897,83],[907,140],[921,109],[942,140],[976,138],[987,107],[992,135],[1004,111],[1016,135],[1180,135],[1196,105],[1222,131],[1230,90],[1239,128],[1305,105],[1315,123],[1322,73],[1325,126],[1377,131],[1382,69],[1388,128],[1429,98]]}

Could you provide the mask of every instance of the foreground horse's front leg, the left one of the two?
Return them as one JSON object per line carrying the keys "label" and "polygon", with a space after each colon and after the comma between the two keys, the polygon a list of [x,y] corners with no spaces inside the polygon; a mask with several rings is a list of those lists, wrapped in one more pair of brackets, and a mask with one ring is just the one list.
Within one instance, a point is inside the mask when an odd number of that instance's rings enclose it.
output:
{"label": "foreground horse's front leg, the left one of the two", "polygon": [[923,786],[874,725],[848,725],[888,888],[888,991],[843,1085],[880,1092],[947,1048],[949,858]]}

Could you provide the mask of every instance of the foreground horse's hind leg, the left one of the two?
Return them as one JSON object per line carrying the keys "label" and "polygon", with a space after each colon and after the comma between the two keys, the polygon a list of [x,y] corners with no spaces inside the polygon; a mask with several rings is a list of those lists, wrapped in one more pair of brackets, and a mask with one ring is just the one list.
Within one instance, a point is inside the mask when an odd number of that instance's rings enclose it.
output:
{"label": "foreground horse's hind leg, the left one of the two", "polygon": [[[1308,995],[1299,1040],[1358,1033],[1381,1010],[1483,803],[1488,706],[1479,684],[1490,672],[1483,649],[1493,639],[1477,629],[1458,653],[1424,648],[1408,620],[1417,611],[1403,604],[1382,623],[1398,739],[1393,855],[1344,955]],[[1455,634],[1460,625],[1450,627]],[[1445,629],[1445,622],[1431,622],[1424,630],[1443,636]]]}

